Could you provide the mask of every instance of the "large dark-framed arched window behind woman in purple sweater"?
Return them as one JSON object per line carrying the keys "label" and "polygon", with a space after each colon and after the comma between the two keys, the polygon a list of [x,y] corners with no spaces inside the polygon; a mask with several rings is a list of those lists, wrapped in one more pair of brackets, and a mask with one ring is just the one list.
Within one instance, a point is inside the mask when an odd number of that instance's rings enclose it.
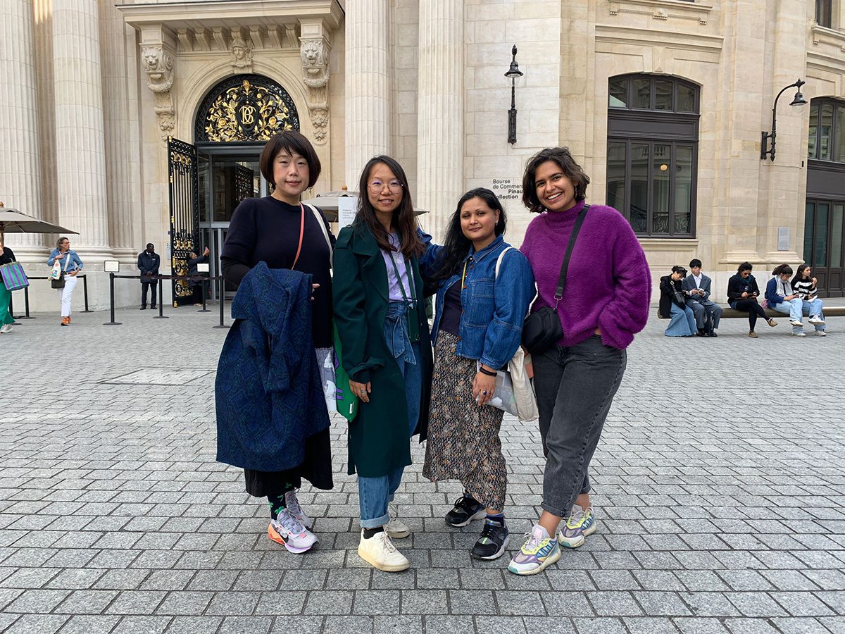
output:
{"label": "large dark-framed arched window behind woman in purple sweater", "polygon": [[695,236],[699,89],[664,75],[608,80],[607,202],[638,236]]}

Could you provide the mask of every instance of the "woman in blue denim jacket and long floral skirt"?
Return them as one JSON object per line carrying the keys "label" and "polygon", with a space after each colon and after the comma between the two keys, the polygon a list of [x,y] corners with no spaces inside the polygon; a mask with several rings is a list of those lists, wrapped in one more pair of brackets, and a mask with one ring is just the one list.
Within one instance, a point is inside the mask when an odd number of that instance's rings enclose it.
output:
{"label": "woman in blue denim jacket and long floral skirt", "polygon": [[[434,372],[423,475],[458,479],[464,495],[446,514],[463,527],[484,517],[472,547],[477,559],[500,557],[508,544],[504,523],[507,474],[499,440],[504,412],[488,405],[496,370],[507,367],[520,345],[522,322],[534,297],[525,255],[504,242],[504,209],[489,189],[472,189],[458,201],[446,243],[421,233],[420,269],[437,287],[431,331]],[[499,275],[496,263],[502,256]]]}

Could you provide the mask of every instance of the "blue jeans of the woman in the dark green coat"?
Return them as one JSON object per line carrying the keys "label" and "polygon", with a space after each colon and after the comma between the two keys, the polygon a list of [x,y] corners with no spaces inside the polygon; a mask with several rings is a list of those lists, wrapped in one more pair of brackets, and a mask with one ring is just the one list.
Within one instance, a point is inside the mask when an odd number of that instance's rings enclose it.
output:
{"label": "blue jeans of the woman in the dark green coat", "polygon": [[[384,318],[384,339],[387,347],[399,364],[399,371],[405,379],[405,396],[408,401],[408,438],[417,429],[420,417],[420,398],[423,393],[422,355],[419,343],[408,339],[406,323],[407,307],[404,302],[390,302]],[[378,398],[378,394],[374,395]],[[373,396],[371,396],[373,398]],[[402,481],[405,467],[376,478],[358,476],[358,504],[361,507],[361,527],[377,528],[390,522],[387,505]]]}

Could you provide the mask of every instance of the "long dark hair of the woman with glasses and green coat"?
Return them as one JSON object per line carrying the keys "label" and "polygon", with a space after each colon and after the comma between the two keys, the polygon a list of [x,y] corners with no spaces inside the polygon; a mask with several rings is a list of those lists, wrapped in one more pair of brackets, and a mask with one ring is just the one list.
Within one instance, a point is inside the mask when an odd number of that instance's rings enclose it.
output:
{"label": "long dark hair of the woman with glasses and green coat", "polygon": [[411,200],[411,192],[408,191],[408,178],[405,175],[405,170],[395,159],[390,156],[373,156],[367,165],[364,166],[361,172],[361,179],[358,182],[358,211],[355,220],[352,221],[352,227],[368,227],[375,236],[375,241],[379,243],[379,249],[384,251],[395,251],[395,247],[390,244],[387,231],[384,225],[379,222],[375,215],[373,205],[369,201],[369,178],[373,167],[380,164],[387,166],[390,172],[393,172],[395,177],[402,183],[402,199],[399,206],[393,212],[393,227],[399,234],[400,245],[399,251],[406,258],[412,258],[414,255],[420,255],[425,250],[423,241],[417,237],[417,216],[414,216],[414,205]]}

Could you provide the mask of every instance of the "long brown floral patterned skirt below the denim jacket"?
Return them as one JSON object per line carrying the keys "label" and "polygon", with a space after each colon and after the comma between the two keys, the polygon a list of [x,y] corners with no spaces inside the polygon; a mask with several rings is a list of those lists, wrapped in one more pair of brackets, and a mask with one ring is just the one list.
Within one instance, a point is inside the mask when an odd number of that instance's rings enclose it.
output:
{"label": "long brown floral patterned skirt below the denim jacket", "polygon": [[472,398],[476,361],[459,357],[457,343],[457,336],[439,331],[423,475],[433,482],[461,480],[476,500],[502,511],[508,484],[499,440],[504,412],[478,407]]}

